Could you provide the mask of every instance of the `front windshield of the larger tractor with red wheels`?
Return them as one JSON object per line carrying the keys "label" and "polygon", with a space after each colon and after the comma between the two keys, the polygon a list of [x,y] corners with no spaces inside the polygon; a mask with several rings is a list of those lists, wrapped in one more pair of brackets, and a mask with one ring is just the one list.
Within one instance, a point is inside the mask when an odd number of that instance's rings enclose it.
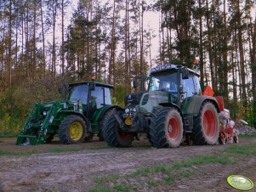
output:
{"label": "front windshield of the larger tractor with red wheels", "polygon": [[151,76],[149,90],[177,93],[177,72]]}

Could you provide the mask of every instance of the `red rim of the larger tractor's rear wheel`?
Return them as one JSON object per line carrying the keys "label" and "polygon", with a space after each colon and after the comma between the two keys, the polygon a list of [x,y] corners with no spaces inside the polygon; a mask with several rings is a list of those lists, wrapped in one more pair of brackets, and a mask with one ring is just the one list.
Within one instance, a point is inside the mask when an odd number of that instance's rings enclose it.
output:
{"label": "red rim of the larger tractor's rear wheel", "polygon": [[211,110],[206,110],[203,115],[203,130],[207,137],[213,137],[216,133],[216,121]]}

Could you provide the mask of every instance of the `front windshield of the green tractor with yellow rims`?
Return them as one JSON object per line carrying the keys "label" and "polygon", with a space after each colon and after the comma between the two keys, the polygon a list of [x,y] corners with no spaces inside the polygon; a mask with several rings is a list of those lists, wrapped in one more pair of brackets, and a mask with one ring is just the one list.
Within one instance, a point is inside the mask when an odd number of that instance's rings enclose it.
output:
{"label": "front windshield of the green tractor with yellow rims", "polygon": [[88,85],[78,85],[71,88],[70,100],[81,99],[82,104],[87,104],[87,97],[88,97]]}

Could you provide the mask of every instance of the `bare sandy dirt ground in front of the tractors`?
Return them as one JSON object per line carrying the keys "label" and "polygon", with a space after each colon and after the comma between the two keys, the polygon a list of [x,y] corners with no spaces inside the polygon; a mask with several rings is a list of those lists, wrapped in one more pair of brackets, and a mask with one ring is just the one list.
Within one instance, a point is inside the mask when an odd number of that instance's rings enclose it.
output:
{"label": "bare sandy dirt ground in front of the tractors", "polygon": [[[0,191],[88,191],[95,177],[113,173],[126,174],[139,167],[172,165],[194,155],[214,155],[229,146],[187,146],[179,149],[154,149],[146,141],[136,141],[131,148],[108,148],[104,142],[62,145],[58,141],[38,146],[14,146],[14,138],[0,138],[0,151],[43,152],[33,155],[0,156]],[[240,144],[256,143],[256,138],[240,139]],[[102,150],[99,150],[102,149]],[[54,153],[58,150],[73,152]],[[74,151],[76,150],[76,151]],[[196,174],[182,178],[172,185],[145,184],[144,180],[121,179],[123,184],[136,183],[136,191],[238,191],[226,178],[242,174],[256,182],[256,158],[243,157],[235,165],[206,164],[192,167]],[[162,176],[152,175],[156,179]],[[256,191],[254,188],[251,191]]]}

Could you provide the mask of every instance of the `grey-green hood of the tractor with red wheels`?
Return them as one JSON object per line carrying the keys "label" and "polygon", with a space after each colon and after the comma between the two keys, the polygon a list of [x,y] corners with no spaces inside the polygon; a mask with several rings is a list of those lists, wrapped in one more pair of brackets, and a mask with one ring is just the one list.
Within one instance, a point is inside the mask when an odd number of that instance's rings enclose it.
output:
{"label": "grey-green hood of the tractor with red wheels", "polygon": [[151,113],[153,107],[161,103],[168,103],[169,93],[162,91],[150,91],[144,93],[140,99],[139,111],[142,113]]}

